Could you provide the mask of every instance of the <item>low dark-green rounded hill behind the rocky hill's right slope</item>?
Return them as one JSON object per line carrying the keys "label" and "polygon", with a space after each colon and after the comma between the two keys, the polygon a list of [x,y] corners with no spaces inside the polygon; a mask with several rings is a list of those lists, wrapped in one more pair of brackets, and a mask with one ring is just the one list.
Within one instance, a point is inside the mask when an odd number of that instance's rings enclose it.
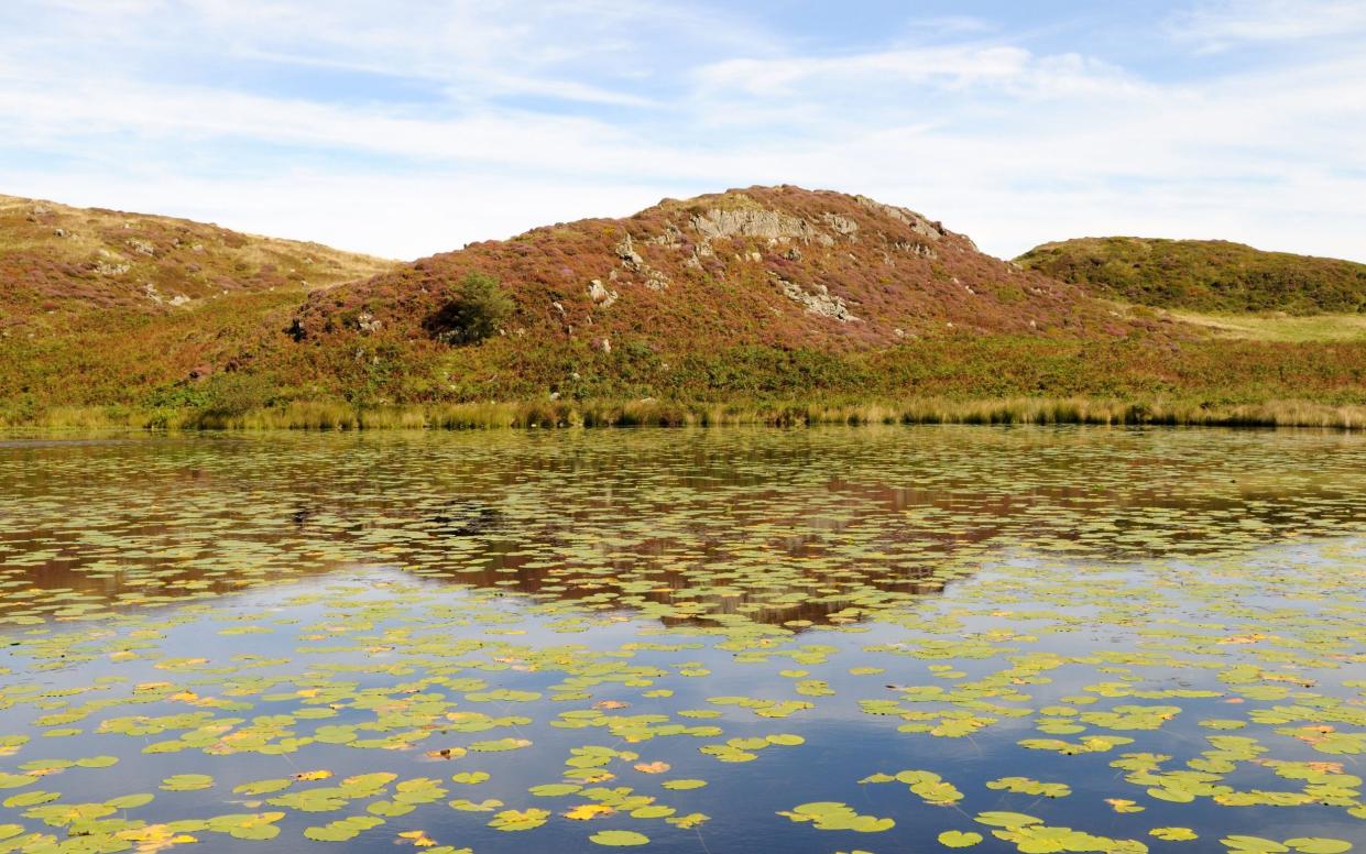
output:
{"label": "low dark-green rounded hill behind the rocky hill's right slope", "polygon": [[1085,238],[1016,260],[1097,295],[1197,312],[1366,312],[1366,264],[1261,251],[1225,240]]}

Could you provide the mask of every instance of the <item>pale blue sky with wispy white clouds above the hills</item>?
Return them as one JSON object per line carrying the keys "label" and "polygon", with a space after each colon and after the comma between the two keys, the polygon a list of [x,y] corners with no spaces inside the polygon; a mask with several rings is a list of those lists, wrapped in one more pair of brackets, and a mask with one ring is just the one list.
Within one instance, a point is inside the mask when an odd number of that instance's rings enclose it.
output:
{"label": "pale blue sky with wispy white clouds above the hills", "polygon": [[792,183],[1366,261],[1363,0],[3,0],[0,193],[393,258]]}

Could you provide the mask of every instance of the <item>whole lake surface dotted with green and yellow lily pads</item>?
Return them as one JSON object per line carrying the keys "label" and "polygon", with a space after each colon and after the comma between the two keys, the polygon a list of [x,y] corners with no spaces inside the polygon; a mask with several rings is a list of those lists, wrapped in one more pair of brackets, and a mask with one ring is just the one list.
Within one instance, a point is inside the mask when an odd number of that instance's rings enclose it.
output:
{"label": "whole lake surface dotted with green and yellow lily pads", "polygon": [[1366,437],[16,435],[0,644],[0,853],[1366,849]]}

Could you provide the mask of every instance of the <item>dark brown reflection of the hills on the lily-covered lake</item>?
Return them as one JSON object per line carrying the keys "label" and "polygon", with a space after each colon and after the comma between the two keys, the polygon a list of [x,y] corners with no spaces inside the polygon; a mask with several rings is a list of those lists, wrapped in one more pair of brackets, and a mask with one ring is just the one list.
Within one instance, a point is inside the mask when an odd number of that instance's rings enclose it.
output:
{"label": "dark brown reflection of the hills on the lily-covered lake", "polygon": [[856,619],[994,549],[1188,557],[1361,530],[1366,443],[889,428],[0,448],[0,615],[384,563],[667,619]]}

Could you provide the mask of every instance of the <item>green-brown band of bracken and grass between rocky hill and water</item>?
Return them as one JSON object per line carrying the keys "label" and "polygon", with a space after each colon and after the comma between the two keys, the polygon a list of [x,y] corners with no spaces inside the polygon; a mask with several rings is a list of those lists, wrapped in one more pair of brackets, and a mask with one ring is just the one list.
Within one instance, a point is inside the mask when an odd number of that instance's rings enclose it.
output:
{"label": "green-brown band of bracken and grass between rocky hill and water", "polygon": [[[205,317],[205,328],[216,318]],[[198,329],[198,327],[195,327]],[[145,332],[145,331],[139,331]],[[0,424],[175,429],[510,428],[820,422],[1257,424],[1358,428],[1366,342],[1225,338],[921,339],[832,354],[732,347],[658,354],[630,339],[605,354],[496,338],[477,347],[414,342],[348,351],[281,344],[208,378],[164,372],[161,338],[56,347],[15,359],[0,344]],[[243,335],[247,331],[243,331]],[[198,335],[198,332],[195,332]],[[635,346],[639,344],[639,346]],[[5,357],[10,350],[11,358]],[[190,362],[193,359],[186,359]],[[22,376],[14,374],[22,369]],[[12,391],[4,391],[5,384]]]}

